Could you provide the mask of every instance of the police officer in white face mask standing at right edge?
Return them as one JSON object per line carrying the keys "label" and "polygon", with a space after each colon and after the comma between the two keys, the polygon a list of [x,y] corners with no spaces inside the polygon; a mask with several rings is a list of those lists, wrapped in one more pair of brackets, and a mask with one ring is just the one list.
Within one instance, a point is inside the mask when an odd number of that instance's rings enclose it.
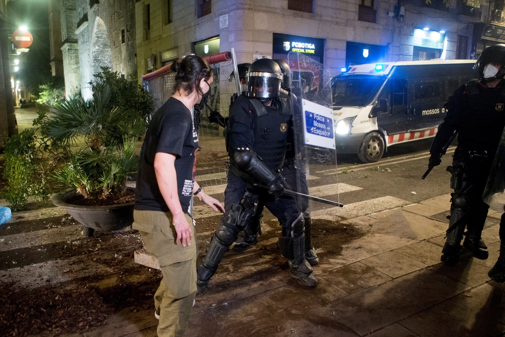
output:
{"label": "police officer in white face mask standing at right edge", "polygon": [[[445,105],[447,114],[431,146],[430,165],[439,165],[442,148],[453,132],[458,132],[458,147],[451,172],[451,208],[447,239],[440,261],[458,262],[463,247],[478,259],[487,259],[481,238],[489,206],[482,193],[505,125],[505,44],[486,48],[476,62],[479,80],[460,86]],[[461,220],[460,220],[461,219]]]}

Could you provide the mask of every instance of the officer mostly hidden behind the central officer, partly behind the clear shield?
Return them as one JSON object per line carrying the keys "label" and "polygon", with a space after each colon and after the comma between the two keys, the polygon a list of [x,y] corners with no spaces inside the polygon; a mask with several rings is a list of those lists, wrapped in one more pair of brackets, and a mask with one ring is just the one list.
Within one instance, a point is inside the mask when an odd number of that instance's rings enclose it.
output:
{"label": "officer mostly hidden behind the central officer, partly behind the clear shield", "polygon": [[[309,188],[307,186],[305,169],[301,160],[301,146],[303,145],[303,139],[299,136],[303,135],[303,130],[300,130],[300,126],[303,125],[303,122],[299,120],[302,117],[301,110],[299,108],[300,104],[297,100],[297,97],[290,92],[291,69],[289,65],[284,60],[274,61],[281,68],[281,73],[283,76],[280,97],[289,98],[293,103],[293,127],[290,127],[287,132],[286,158],[284,160],[284,164],[282,165],[282,176],[286,179],[286,182],[291,189],[308,195]],[[295,120],[296,118],[298,120]],[[297,136],[296,139],[295,136]],[[314,246],[312,245],[312,218],[308,211],[309,201],[307,198],[298,197],[297,202],[298,208],[302,213],[304,213],[305,258],[311,264],[311,266],[315,266],[319,263],[319,258],[316,254]],[[261,233],[261,219],[263,217],[263,208],[264,203],[260,198],[258,200],[256,214],[252,216],[251,223],[243,231],[243,235],[240,236],[235,242],[235,247],[239,250],[245,249],[251,245],[258,243],[258,236]]]}

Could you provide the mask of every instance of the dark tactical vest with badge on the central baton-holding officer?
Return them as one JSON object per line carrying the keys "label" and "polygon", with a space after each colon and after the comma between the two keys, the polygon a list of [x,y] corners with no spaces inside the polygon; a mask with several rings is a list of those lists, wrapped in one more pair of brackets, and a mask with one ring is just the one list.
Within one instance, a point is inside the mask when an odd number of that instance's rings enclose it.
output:
{"label": "dark tactical vest with badge on the central baton-holding officer", "polygon": [[286,153],[286,137],[292,115],[289,98],[275,100],[274,107],[265,107],[256,99],[249,100],[254,107],[254,152],[272,170],[282,167]]}

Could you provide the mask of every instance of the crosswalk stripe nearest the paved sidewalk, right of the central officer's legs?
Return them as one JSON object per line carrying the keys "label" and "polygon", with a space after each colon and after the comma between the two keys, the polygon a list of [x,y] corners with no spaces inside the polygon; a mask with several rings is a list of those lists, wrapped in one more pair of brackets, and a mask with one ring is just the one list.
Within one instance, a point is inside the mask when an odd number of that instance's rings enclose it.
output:
{"label": "crosswalk stripe nearest the paved sidewalk, right of the central officer's legs", "polygon": [[387,196],[344,205],[344,207],[330,207],[314,211],[311,212],[311,216],[313,219],[327,219],[335,221],[341,218],[350,219],[362,215],[382,212],[409,204],[410,202],[407,200]]}

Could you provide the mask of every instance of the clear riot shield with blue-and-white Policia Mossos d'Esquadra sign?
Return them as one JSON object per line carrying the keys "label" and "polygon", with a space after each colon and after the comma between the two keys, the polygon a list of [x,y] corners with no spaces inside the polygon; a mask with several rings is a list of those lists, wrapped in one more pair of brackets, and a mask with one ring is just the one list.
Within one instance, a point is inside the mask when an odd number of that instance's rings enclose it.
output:
{"label": "clear riot shield with blue-and-white Policia Mossos d'Esquadra sign", "polygon": [[[296,188],[303,192],[307,185],[309,195],[339,202],[330,71],[299,53],[289,53],[288,64],[295,165],[301,168]],[[298,203],[302,208],[304,201]],[[340,212],[336,206],[315,201],[309,202],[309,211],[312,217],[327,219],[335,219]]]}

